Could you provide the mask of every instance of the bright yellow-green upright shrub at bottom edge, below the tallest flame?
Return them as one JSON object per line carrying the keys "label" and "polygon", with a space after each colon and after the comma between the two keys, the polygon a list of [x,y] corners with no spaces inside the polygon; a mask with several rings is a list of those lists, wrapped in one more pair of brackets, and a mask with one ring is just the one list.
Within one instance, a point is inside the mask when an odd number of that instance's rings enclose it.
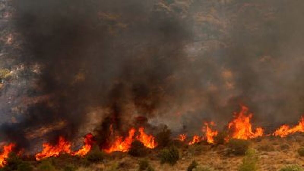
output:
{"label": "bright yellow-green upright shrub at bottom edge, below the tallest flame", "polygon": [[248,149],[238,171],[256,171],[258,158],[254,149]]}

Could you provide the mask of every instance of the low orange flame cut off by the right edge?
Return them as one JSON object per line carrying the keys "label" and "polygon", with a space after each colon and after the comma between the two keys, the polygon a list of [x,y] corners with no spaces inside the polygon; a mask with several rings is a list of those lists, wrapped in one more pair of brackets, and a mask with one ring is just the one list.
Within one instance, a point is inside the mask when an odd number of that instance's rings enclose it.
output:
{"label": "low orange flame cut off by the right edge", "polygon": [[304,132],[304,117],[301,117],[301,120],[294,127],[289,127],[288,125],[282,125],[279,127],[273,135],[286,137],[288,134],[294,134],[296,132]]}

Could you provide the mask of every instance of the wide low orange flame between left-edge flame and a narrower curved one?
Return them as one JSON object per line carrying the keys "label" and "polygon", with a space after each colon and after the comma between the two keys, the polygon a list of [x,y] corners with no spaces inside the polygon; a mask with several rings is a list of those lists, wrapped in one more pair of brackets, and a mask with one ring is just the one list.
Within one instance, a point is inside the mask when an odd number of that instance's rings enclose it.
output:
{"label": "wide low orange flame between left-edge flame and a narrower curved one", "polygon": [[57,157],[61,153],[71,153],[71,143],[66,141],[62,136],[59,137],[57,145],[43,143],[43,150],[35,155],[37,160],[46,159],[48,157]]}

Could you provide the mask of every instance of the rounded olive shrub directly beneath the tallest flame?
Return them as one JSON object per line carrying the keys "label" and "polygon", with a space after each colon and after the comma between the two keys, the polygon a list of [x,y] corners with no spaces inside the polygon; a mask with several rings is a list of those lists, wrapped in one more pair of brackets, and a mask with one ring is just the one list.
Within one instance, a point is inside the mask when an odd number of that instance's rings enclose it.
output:
{"label": "rounded olive shrub directly beneath the tallest flame", "polygon": [[228,146],[232,149],[235,155],[244,155],[249,148],[250,142],[248,140],[231,139]]}

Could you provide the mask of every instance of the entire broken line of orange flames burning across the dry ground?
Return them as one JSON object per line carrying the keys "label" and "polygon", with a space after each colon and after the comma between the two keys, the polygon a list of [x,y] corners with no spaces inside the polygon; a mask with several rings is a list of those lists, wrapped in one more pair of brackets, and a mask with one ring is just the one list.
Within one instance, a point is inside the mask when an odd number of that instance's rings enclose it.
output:
{"label": "entire broken line of orange flames burning across the dry ground", "polygon": [[[251,118],[253,117],[252,113],[248,113],[248,108],[246,106],[241,106],[239,113],[234,113],[233,120],[228,123],[227,129],[229,130],[228,135],[225,140],[229,141],[230,139],[252,139],[261,136],[279,136],[286,137],[289,134],[294,134],[296,132],[304,132],[304,117],[301,118],[299,123],[293,127],[288,125],[282,125],[274,133],[265,135],[264,130],[261,127],[255,129],[252,128]],[[214,129],[214,122],[205,122],[202,127],[203,136],[194,135],[190,141],[187,142],[188,145],[193,145],[201,141],[206,141],[209,144],[213,144],[214,138],[218,134],[218,131]],[[111,134],[114,135],[113,127],[110,126]],[[180,134],[177,140],[186,142],[187,134]],[[111,152],[128,152],[131,148],[131,145],[134,141],[140,141],[147,148],[157,147],[156,138],[151,134],[146,134],[143,127],[139,127],[138,130],[131,128],[129,134],[126,137],[115,136],[113,141],[111,141],[109,147],[102,149],[106,153]],[[35,155],[36,160],[46,159],[49,157],[57,157],[62,153],[70,154],[72,156],[78,155],[84,157],[94,145],[94,136],[93,134],[87,134],[84,139],[84,145],[77,151],[72,151],[72,143],[67,141],[64,137],[60,136],[57,144],[52,145],[50,143],[43,143],[43,150]],[[9,153],[15,152],[14,148],[16,144],[9,143],[3,146],[2,152],[0,152],[0,167],[5,166],[6,159],[9,157]],[[18,152],[17,152],[18,153]],[[18,153],[21,155],[21,153]]]}

